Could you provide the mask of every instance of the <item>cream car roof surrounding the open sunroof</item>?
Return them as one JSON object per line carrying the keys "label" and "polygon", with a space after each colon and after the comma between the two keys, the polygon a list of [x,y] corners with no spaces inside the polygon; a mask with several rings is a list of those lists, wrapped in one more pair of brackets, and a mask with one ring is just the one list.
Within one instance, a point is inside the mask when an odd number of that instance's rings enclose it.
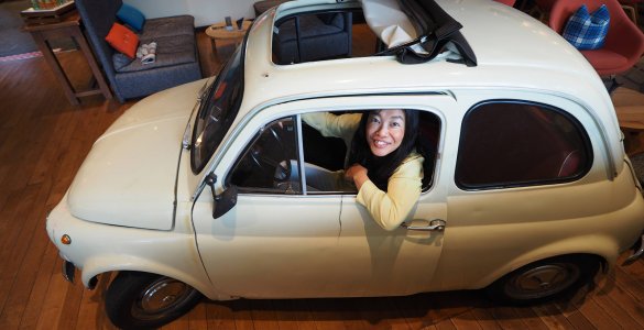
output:
{"label": "cream car roof surrounding the open sunroof", "polygon": [[[604,89],[583,56],[543,23],[490,0],[437,3],[459,21],[478,65],[446,61],[405,65],[394,56],[369,56],[276,65],[272,34],[276,19],[320,4],[351,6],[335,0],[291,1],[259,16],[245,41],[244,103],[303,95],[342,95],[449,89],[457,87],[538,88],[565,91],[568,85]],[[318,7],[316,7],[318,6]],[[356,6],[356,3],[353,3]],[[306,84],[303,84],[306,81]],[[597,91],[594,91],[597,92]]]}

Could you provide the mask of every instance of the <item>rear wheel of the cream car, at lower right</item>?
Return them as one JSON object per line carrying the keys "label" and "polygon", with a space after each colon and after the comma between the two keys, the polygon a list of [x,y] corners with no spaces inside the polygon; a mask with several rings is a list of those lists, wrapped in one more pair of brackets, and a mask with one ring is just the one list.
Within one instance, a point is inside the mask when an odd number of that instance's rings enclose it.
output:
{"label": "rear wheel of the cream car, at lower right", "polygon": [[502,305],[526,306],[575,293],[594,278],[598,257],[583,254],[546,258],[525,265],[485,288],[488,297]]}

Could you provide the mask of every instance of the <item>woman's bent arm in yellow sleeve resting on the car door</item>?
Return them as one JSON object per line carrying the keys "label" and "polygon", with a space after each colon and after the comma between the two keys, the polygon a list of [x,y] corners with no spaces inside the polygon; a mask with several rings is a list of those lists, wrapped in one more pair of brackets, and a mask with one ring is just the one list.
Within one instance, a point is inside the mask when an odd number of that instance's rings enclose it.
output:
{"label": "woman's bent arm in yellow sleeve resting on the car door", "polygon": [[[356,172],[358,176],[359,173]],[[422,178],[423,157],[415,156],[405,161],[390,177],[386,193],[380,190],[371,180],[364,180],[358,187],[358,202],[367,208],[380,227],[394,230],[405,221],[418,201]],[[359,184],[356,182],[356,186]]]}

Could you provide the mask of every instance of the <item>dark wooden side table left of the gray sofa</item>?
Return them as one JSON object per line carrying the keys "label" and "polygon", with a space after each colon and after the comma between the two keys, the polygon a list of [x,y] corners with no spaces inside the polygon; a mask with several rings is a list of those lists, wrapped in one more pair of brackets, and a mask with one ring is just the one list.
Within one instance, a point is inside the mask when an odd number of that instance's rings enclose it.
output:
{"label": "dark wooden side table left of the gray sofa", "polygon": [[[77,106],[79,103],[78,98],[102,94],[103,97],[108,100],[112,98],[112,94],[108,87],[108,84],[105,80],[105,77],[96,63],[94,57],[94,53],[87,44],[87,40],[80,30],[80,16],[78,12],[70,14],[69,16],[65,18],[61,22],[47,23],[47,24],[25,24],[24,30],[30,32],[33,36],[36,45],[39,46],[40,51],[43,53],[45,61],[54,70],[54,75],[63,85],[63,90],[65,91],[65,96],[69,99],[72,105]],[[55,38],[66,38],[70,37],[79,47],[80,52],[87,59],[89,64],[89,68],[94,75],[94,79],[98,84],[98,87],[95,89],[88,90],[80,90],[77,91],[72,86],[69,78],[63,70],[58,58],[54,54],[53,50],[50,46],[48,41]]]}

